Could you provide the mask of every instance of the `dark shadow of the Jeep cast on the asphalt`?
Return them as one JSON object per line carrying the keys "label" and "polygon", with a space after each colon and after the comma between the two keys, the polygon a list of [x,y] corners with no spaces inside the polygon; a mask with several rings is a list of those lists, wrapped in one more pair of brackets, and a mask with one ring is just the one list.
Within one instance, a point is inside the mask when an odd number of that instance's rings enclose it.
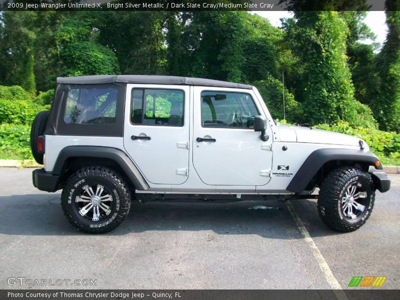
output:
{"label": "dark shadow of the Jeep cast on the asphalt", "polygon": [[[291,200],[305,207],[308,200]],[[310,201],[312,202],[312,201]],[[314,215],[315,214],[315,215]],[[318,222],[311,236],[340,234],[327,228],[313,209],[302,217]],[[304,223],[307,223],[305,221]],[[266,238],[302,238],[283,201],[132,202],[123,223],[106,235],[124,235],[153,230],[212,230],[216,234],[257,234]],[[0,233],[8,235],[87,235],[65,219],[59,194],[0,196]]]}

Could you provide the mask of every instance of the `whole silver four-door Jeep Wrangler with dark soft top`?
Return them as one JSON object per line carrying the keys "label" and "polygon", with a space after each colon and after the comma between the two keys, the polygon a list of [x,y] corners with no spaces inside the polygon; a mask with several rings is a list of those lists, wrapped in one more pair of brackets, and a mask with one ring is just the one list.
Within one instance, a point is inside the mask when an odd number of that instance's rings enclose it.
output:
{"label": "whole silver four-door Jeep Wrangler with dark soft top", "polygon": [[276,124],[254,86],[201,78],[59,77],[31,148],[44,164],[33,185],[62,189],[66,218],[91,233],[118,226],[131,200],[304,198],[315,187],[323,222],[353,231],[390,187],[364,141]]}

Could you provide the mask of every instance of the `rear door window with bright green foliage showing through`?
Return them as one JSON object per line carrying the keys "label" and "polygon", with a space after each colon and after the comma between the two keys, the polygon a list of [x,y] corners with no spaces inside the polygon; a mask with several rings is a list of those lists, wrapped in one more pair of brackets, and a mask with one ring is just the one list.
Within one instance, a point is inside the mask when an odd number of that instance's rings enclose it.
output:
{"label": "rear door window with bright green foliage showing through", "polygon": [[133,124],[183,126],[184,93],[178,89],[132,89]]}

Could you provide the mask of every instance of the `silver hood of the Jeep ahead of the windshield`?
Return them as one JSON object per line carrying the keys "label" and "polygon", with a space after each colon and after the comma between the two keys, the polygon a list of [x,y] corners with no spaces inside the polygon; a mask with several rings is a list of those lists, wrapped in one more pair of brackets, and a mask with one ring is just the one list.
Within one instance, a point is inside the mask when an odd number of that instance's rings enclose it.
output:
{"label": "silver hood of the Jeep ahead of the windshield", "polygon": [[[309,127],[290,126],[278,124],[281,141],[297,141],[309,143],[336,144],[346,146],[359,146],[358,137],[337,133],[322,129],[310,129]],[[294,139],[295,135],[295,140]],[[366,146],[366,143],[364,142]]]}

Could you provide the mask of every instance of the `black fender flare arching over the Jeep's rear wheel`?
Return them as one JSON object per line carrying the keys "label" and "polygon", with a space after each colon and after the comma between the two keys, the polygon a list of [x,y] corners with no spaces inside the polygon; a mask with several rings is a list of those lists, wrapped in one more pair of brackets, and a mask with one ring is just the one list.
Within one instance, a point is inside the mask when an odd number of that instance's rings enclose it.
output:
{"label": "black fender flare arching over the Jeep's rear wheel", "polygon": [[63,148],[55,160],[52,174],[60,175],[65,169],[65,161],[73,157],[108,158],[115,161],[138,190],[149,188],[136,165],[129,156],[120,149],[103,146],[67,146]]}

